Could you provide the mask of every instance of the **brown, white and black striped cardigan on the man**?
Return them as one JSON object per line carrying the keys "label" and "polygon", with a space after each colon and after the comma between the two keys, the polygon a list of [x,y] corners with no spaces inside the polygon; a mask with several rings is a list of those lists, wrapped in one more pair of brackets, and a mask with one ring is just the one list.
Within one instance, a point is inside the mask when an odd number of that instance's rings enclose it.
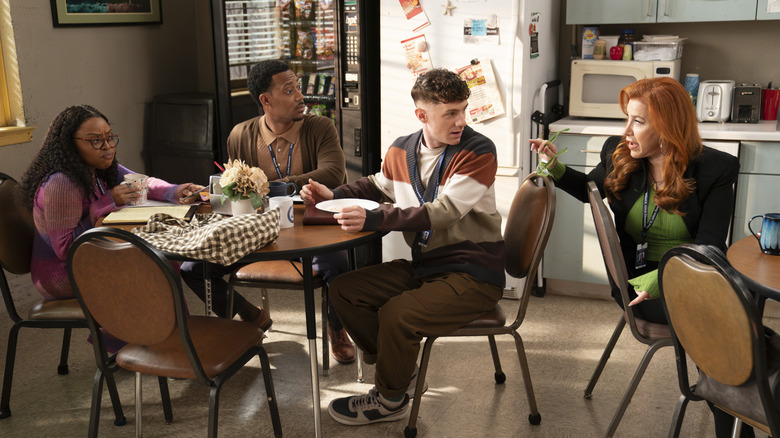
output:
{"label": "brown, white and black striped cardigan on the man", "polygon": [[[422,130],[398,138],[388,149],[382,170],[334,190],[336,198],[392,202],[366,212],[364,230],[402,231],[412,248],[418,278],[463,272],[504,286],[504,241],[496,210],[498,162],[490,139],[466,127],[457,145],[446,146],[436,197],[421,205],[417,146]],[[426,230],[427,246],[418,242]]]}

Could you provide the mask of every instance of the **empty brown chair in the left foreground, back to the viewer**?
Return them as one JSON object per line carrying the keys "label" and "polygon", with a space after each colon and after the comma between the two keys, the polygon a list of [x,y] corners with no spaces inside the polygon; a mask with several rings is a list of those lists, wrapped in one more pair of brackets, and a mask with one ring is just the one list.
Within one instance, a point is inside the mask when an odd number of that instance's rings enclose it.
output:
{"label": "empty brown chair in the left foreground, back to the viewer", "polygon": [[[142,430],[141,374],[150,374],[158,376],[167,421],[172,414],[166,378],[194,379],[208,386],[208,436],[216,437],[222,384],[255,355],[262,365],[274,434],[281,436],[262,330],[231,319],[188,316],[181,279],[161,252],[124,230],[95,228],[73,243],[68,275],[92,337],[98,340],[90,436],[97,436],[102,378],[118,366],[136,373],[138,436]],[[105,293],[106,285],[111,285],[110,294]],[[115,365],[100,348],[100,328],[127,342],[117,352]]]}

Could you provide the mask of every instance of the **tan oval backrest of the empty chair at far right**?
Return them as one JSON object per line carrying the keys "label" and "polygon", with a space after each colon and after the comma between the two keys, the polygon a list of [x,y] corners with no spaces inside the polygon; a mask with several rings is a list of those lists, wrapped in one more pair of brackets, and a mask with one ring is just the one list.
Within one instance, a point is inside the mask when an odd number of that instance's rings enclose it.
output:
{"label": "tan oval backrest of the empty chair at far right", "polygon": [[662,281],[670,323],[694,363],[721,383],[745,383],[753,372],[755,327],[729,279],[679,254],[667,260]]}

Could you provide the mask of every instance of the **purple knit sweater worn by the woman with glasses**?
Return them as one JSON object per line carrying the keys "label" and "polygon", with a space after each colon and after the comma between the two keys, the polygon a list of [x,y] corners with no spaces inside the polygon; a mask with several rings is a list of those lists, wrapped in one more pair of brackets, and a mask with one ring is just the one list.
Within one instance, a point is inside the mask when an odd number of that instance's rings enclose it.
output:
{"label": "purple knit sweater worn by the woman with glasses", "polygon": [[[119,181],[128,173],[134,172],[119,166]],[[93,228],[101,216],[118,209],[107,186],[105,181],[102,181],[104,190],[95,185],[97,197],[88,197],[65,174],[54,173],[35,192],[35,238],[30,275],[45,299],[73,298],[65,267],[68,250],[73,241],[84,231]],[[163,180],[149,178],[148,196],[149,199],[175,202],[178,188]]]}

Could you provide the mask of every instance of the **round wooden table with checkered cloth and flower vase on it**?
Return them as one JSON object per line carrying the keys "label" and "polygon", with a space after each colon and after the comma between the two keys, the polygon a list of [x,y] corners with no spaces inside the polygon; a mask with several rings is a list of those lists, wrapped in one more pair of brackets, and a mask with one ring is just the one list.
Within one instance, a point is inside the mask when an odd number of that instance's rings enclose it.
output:
{"label": "round wooden table with checkered cloth and flower vase on it", "polygon": [[[255,251],[243,259],[241,262],[259,262],[265,260],[288,260],[300,258],[303,262],[303,288],[304,288],[304,307],[306,312],[306,337],[309,341],[309,362],[311,367],[311,386],[312,402],[314,409],[314,434],[317,437],[322,436],[322,418],[320,413],[320,383],[317,366],[317,314],[314,310],[314,288],[312,286],[312,257],[323,254],[349,250],[357,246],[366,244],[374,239],[382,237],[383,232],[362,231],[347,232],[341,229],[339,225],[303,225],[303,213],[305,207],[296,204],[295,223],[291,228],[282,228],[279,231],[279,237],[275,242]],[[211,211],[208,204],[204,204],[198,209],[200,213]],[[98,223],[99,225],[100,223]],[[136,225],[114,225],[116,228],[130,230]],[[186,257],[176,256],[166,253],[174,260],[191,260]],[[350,257],[351,266],[354,268],[354,258]],[[209,280],[207,280],[209,281]],[[207,285],[207,291],[210,291],[210,285]],[[323,345],[323,348],[327,348]]]}

